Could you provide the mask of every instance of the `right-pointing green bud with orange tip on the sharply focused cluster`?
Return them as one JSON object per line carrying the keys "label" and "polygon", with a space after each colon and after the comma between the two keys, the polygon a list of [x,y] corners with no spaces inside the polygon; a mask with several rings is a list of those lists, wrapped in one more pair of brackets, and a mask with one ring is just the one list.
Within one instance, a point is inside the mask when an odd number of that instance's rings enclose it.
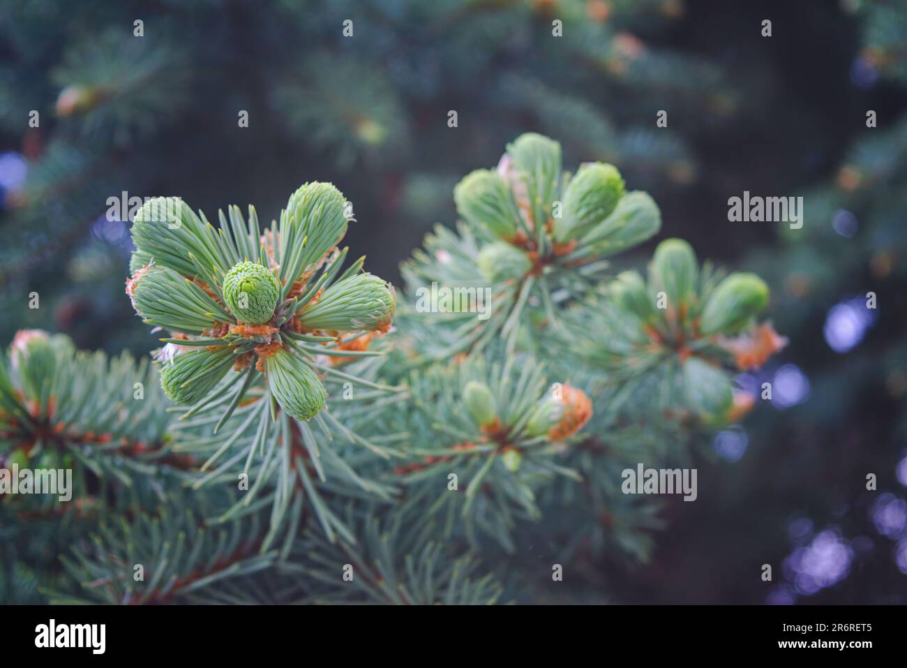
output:
{"label": "right-pointing green bud with orange tip on the sharply focused cluster", "polygon": [[396,296],[389,283],[361,273],[336,282],[314,304],[299,311],[307,329],[387,331],[394,321]]}

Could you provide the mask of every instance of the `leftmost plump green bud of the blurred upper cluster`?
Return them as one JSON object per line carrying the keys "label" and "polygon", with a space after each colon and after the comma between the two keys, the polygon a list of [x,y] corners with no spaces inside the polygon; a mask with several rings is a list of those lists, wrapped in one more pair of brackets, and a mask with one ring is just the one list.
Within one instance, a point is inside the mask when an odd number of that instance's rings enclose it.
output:
{"label": "leftmost plump green bud of the blurred upper cluster", "polygon": [[468,174],[453,189],[453,201],[463,220],[487,228],[502,239],[517,231],[511,193],[501,175],[490,170]]}

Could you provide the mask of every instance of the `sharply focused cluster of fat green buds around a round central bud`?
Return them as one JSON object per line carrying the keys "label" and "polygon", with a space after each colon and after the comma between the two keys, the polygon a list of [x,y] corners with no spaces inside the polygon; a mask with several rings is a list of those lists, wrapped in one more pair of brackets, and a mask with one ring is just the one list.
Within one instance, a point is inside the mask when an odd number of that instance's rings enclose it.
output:
{"label": "sharply focused cluster of fat green buds around a round central bud", "polygon": [[[294,417],[310,420],[327,400],[317,355],[336,349],[334,357],[366,356],[366,349],[343,347],[362,333],[390,328],[394,292],[359,273],[362,260],[340,273],[346,250],[336,244],[346,234],[346,200],[329,183],[297,189],[279,226],[264,235],[252,208],[248,222],[237,207],[229,208],[229,224],[222,212],[219,220],[215,231],[181,200],[158,198],[132,226],[132,266],[142,266],[127,292],[146,321],[174,332],[159,354],[162,386],[195,412],[226,403],[212,401],[214,388],[229,392],[220,427],[267,380],[265,402],[274,398]],[[229,373],[250,367],[255,370],[245,375]]]}

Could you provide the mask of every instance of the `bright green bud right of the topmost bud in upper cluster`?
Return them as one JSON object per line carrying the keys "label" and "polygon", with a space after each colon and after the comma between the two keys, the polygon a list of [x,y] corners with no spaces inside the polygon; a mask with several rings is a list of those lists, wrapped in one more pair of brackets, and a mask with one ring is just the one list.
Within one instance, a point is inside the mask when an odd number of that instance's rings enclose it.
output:
{"label": "bright green bud right of the topmost bud in upper cluster", "polygon": [[624,182],[610,164],[590,162],[580,167],[564,193],[564,214],[554,219],[554,241],[580,239],[608,218],[623,197]]}

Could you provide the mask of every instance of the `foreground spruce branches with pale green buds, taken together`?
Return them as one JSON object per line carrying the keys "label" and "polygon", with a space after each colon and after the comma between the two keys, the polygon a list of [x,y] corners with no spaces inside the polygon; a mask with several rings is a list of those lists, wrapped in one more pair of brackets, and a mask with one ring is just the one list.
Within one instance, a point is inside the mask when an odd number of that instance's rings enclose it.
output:
{"label": "foreground spruce branches with pale green buds, taken together", "polygon": [[[61,458],[77,471],[73,504],[4,500],[14,527],[69,529],[32,595],[519,600],[538,574],[495,555],[565,512],[565,549],[644,559],[655,511],[621,499],[618,467],[681,461],[739,417],[732,351],[766,285],[700,270],[679,240],[648,280],[610,275],[605,258],[657,233],[658,207],[612,165],[564,172],[540,134],[454,192],[458,230],[426,240],[399,297],[364,258],[345,266],[331,184],[299,187],[269,226],[254,207],[218,229],[180,199],[146,202],[126,293],[163,335],[153,367],[33,330],[0,360],[6,477]],[[417,300],[428,281],[457,297]]]}

